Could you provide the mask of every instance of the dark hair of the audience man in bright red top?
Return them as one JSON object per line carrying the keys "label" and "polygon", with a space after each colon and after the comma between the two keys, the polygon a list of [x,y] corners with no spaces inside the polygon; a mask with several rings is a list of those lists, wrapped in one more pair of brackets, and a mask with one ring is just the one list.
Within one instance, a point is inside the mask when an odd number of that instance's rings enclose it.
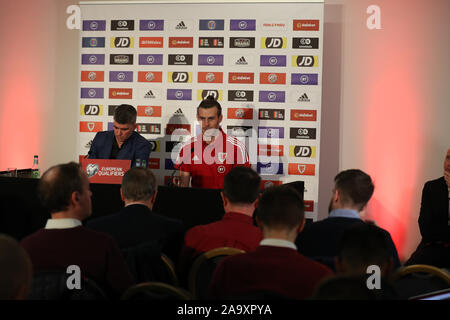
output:
{"label": "dark hair of the audience man in bright red top", "polygon": [[231,203],[250,204],[258,198],[261,177],[255,170],[237,166],[225,176],[223,194]]}

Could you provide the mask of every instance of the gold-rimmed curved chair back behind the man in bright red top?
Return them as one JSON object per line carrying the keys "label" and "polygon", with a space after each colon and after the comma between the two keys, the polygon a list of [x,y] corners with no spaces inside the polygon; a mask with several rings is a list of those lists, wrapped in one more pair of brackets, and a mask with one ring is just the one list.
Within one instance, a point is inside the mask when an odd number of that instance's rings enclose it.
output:
{"label": "gold-rimmed curved chair back behind the man in bright red top", "polygon": [[197,299],[206,299],[209,283],[219,262],[227,256],[241,253],[245,253],[245,251],[229,247],[216,248],[202,253],[194,260],[189,271],[189,291]]}

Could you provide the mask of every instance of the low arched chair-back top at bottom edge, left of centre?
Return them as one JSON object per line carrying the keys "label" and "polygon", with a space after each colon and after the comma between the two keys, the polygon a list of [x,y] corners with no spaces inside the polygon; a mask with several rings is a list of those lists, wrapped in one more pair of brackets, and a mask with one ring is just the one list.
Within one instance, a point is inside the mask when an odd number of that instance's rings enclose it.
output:
{"label": "low arched chair-back top at bottom edge, left of centre", "polygon": [[187,290],[162,282],[144,282],[130,287],[121,300],[193,300]]}

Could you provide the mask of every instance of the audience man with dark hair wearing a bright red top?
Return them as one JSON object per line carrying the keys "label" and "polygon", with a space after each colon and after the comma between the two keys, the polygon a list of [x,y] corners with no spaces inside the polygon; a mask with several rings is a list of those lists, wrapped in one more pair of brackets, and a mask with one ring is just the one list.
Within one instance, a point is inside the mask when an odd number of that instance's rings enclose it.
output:
{"label": "audience man with dark hair wearing a bright red top", "polygon": [[225,215],[222,220],[188,230],[181,254],[181,273],[187,273],[195,257],[220,247],[251,251],[262,233],[253,223],[261,178],[251,168],[234,167],[225,176],[221,192]]}

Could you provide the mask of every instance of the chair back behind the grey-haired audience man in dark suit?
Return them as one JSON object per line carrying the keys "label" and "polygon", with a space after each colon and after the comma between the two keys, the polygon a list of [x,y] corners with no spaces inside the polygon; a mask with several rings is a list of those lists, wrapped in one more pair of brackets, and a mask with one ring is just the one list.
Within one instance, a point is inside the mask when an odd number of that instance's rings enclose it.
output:
{"label": "chair back behind the grey-haired audience man in dark suit", "polygon": [[122,249],[122,254],[136,283],[153,281],[178,285],[174,264],[161,253],[158,241]]}

